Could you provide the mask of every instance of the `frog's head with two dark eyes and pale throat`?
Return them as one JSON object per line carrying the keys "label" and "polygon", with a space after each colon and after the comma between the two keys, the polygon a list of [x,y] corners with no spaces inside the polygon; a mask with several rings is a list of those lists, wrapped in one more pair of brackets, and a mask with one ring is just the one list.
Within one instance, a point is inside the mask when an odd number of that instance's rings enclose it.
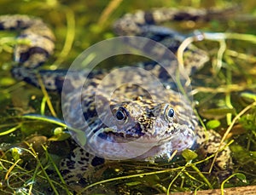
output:
{"label": "frog's head with two dark eyes and pale throat", "polygon": [[110,159],[151,159],[180,152],[195,138],[195,123],[188,118],[191,108],[181,112],[180,107],[142,98],[113,103],[87,136],[89,152]]}

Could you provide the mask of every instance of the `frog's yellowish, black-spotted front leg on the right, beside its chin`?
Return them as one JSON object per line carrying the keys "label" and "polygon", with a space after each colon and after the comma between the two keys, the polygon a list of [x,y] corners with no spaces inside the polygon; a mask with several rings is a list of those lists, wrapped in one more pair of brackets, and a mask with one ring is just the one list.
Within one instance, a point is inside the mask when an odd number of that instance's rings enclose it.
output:
{"label": "frog's yellowish, black-spotted front leg on the right, beside its chin", "polygon": [[[222,142],[222,137],[214,130],[205,131],[199,129],[197,131],[198,139],[197,144],[199,145],[198,152],[205,158],[216,154],[217,157],[214,159],[212,173],[218,176],[219,181],[230,175],[232,170],[232,158],[230,156],[230,147],[226,146],[226,143]],[[212,165],[212,161],[203,169],[203,171],[209,171]]]}

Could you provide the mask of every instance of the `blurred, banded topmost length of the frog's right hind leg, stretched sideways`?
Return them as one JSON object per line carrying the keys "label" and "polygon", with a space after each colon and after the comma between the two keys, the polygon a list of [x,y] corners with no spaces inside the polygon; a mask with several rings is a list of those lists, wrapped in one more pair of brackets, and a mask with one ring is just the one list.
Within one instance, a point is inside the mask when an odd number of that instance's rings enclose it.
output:
{"label": "blurred, banded topmost length of the frog's right hind leg, stretched sideways", "polygon": [[223,20],[224,17],[234,14],[236,9],[236,7],[231,7],[227,9],[162,8],[149,11],[139,10],[134,14],[125,14],[115,22],[113,27],[119,35],[138,35],[151,32],[148,26],[156,26],[164,22]]}

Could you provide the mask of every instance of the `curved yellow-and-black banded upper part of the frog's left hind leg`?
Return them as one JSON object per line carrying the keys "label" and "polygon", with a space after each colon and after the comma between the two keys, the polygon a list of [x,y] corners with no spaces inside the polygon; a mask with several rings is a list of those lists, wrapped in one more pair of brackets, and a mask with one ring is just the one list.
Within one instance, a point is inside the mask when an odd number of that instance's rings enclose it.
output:
{"label": "curved yellow-and-black banded upper part of the frog's left hind leg", "polygon": [[0,16],[0,31],[19,32],[15,46],[15,63],[26,68],[44,64],[55,49],[55,36],[44,22],[27,15]]}

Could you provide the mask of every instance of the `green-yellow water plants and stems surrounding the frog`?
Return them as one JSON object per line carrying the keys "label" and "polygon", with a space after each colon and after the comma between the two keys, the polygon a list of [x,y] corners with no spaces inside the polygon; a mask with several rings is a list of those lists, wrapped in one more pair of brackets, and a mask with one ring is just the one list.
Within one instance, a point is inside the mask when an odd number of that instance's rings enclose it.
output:
{"label": "green-yellow water plants and stems surrounding the frog", "polygon": [[[35,14],[54,29],[56,52],[45,65],[52,70],[68,67],[83,49],[104,38],[114,37],[110,26],[122,14],[135,9],[178,7],[179,3],[148,1],[144,5],[118,0],[109,3],[12,2],[14,6],[10,10],[10,2],[3,1],[0,6],[6,10],[1,10],[0,14]],[[227,4],[224,0],[215,1],[217,4],[214,1],[182,2],[183,6],[195,8]],[[244,22],[255,21],[255,11],[252,13],[253,9],[249,8],[256,4],[248,1],[243,6],[250,14],[243,17],[241,13],[235,20],[214,20],[202,26],[211,33],[205,34],[204,40],[196,44],[208,51],[211,60],[193,77],[191,92],[201,125],[215,129],[224,135],[223,141],[229,141],[234,174],[219,184],[211,173],[202,173],[200,169],[215,155],[198,161],[195,152],[186,150],[183,158],[173,157],[175,160],[168,163],[104,164],[96,173],[102,180],[92,180],[80,192],[154,194],[256,185],[256,36],[253,36],[256,26],[253,22]],[[185,26],[186,31],[191,32],[193,28],[186,25],[189,24],[177,25],[177,28]],[[219,37],[220,34],[212,32],[216,29],[229,33]],[[61,119],[59,95],[48,94],[44,86],[34,89],[26,83],[16,82],[9,74],[15,33],[0,32],[0,36],[0,193],[72,194],[58,169],[60,159],[71,149],[67,126],[61,120],[45,117]]]}

